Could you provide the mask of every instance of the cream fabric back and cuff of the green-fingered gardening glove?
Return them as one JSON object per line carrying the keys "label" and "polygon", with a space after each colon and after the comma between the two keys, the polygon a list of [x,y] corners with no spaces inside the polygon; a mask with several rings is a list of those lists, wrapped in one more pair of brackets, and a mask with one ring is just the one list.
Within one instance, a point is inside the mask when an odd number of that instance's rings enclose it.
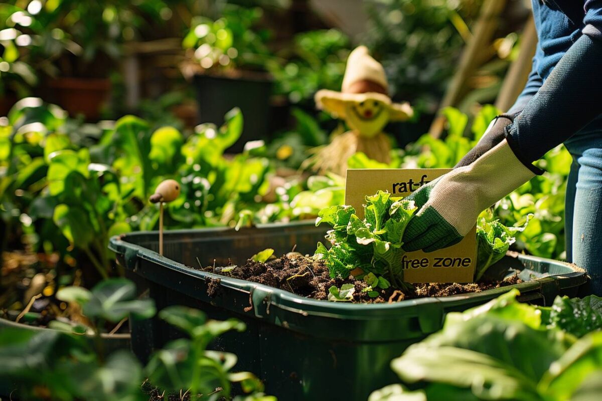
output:
{"label": "cream fabric back and cuff of the green-fingered gardening glove", "polygon": [[432,206],[465,236],[480,212],[534,176],[504,139],[472,164],[442,176],[430,192],[424,210]]}

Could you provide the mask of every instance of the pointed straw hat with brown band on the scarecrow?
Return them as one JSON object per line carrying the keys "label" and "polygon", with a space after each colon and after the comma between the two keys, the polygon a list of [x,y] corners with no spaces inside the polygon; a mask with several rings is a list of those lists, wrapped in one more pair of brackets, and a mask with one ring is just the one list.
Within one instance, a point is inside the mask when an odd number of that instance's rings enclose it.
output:
{"label": "pointed straw hat with brown band on the scarecrow", "polygon": [[349,117],[346,115],[349,103],[375,100],[388,111],[389,121],[408,120],[414,114],[411,106],[409,103],[391,102],[388,89],[382,64],[370,56],[367,47],[359,46],[347,58],[341,91],[319,90],[315,94],[315,103],[318,108],[344,119]]}

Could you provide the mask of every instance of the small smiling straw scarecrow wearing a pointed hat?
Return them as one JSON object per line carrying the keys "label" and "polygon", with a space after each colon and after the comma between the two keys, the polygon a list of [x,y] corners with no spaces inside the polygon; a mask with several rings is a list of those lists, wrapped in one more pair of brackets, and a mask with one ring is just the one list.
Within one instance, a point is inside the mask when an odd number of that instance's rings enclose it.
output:
{"label": "small smiling straw scarecrow wearing a pointed hat", "polygon": [[388,96],[385,70],[359,46],[347,58],[340,92],[320,90],[315,103],[334,117],[345,120],[350,131],[335,136],[321,148],[312,162],[315,170],[346,176],[347,159],[356,152],[368,158],[389,163],[391,142],[382,129],[389,121],[405,121],[412,117],[409,103],[393,103]]}

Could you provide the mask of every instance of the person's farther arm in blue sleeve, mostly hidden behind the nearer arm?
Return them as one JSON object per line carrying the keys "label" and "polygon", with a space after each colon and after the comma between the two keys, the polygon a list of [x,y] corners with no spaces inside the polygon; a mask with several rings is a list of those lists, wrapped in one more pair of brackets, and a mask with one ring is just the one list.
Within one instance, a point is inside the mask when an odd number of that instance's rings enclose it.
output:
{"label": "person's farther arm in blue sleeve, mostly hidden behind the nearer arm", "polygon": [[[537,52],[541,52],[539,43],[537,46]],[[458,162],[458,164],[455,165],[455,168],[467,166],[476,161],[476,159],[483,156],[485,152],[500,143],[506,137],[506,131],[504,130],[506,126],[511,124],[512,121],[514,121],[514,118],[517,117],[521,111],[523,111],[529,100],[537,93],[539,88],[541,88],[541,85],[544,83],[541,79],[541,76],[539,76],[537,72],[536,60],[537,56],[533,57],[533,66],[531,73],[529,74],[529,79],[527,79],[527,84],[525,85],[521,94],[518,96],[516,102],[514,102],[514,105],[512,105],[507,112],[498,115],[491,121],[491,123],[489,123],[487,130],[479,142],[464,156],[464,158]]]}

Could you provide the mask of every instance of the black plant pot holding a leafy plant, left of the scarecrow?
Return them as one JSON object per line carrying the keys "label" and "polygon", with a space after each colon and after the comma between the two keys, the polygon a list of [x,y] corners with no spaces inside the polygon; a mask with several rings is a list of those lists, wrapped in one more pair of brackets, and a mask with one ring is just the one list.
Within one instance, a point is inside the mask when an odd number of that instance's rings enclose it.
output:
{"label": "black plant pot holding a leafy plant, left of the scarecrow", "polygon": [[272,81],[267,76],[229,78],[196,74],[193,85],[199,105],[199,124],[220,126],[232,108],[238,107],[243,112],[243,134],[228,152],[242,152],[247,141],[270,138]]}

